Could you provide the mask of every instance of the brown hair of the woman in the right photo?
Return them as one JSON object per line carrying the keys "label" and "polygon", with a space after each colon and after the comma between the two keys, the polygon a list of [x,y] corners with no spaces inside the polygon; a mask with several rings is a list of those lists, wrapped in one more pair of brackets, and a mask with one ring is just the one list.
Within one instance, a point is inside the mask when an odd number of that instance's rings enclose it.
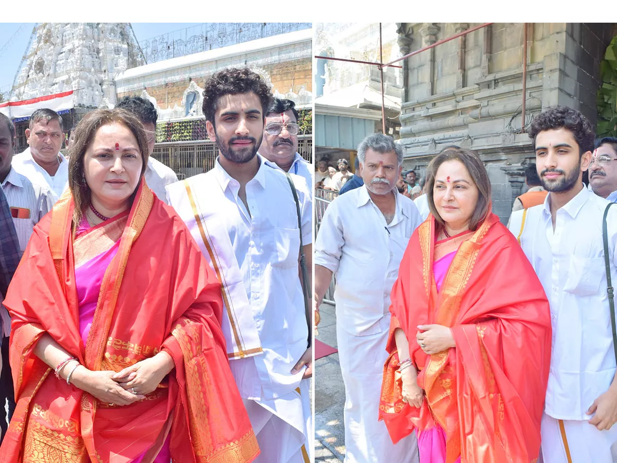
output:
{"label": "brown hair of the woman in the right photo", "polygon": [[484,168],[484,164],[476,153],[470,149],[464,148],[447,148],[440,152],[433,158],[426,168],[426,194],[428,194],[428,207],[431,210],[431,214],[435,217],[437,222],[444,225],[444,219],[441,218],[435,202],[433,199],[433,187],[435,186],[435,175],[437,170],[444,162],[447,161],[459,161],[465,165],[465,169],[469,172],[471,179],[478,187],[478,202],[476,203],[476,209],[471,214],[469,222],[469,229],[476,230],[479,223],[481,223],[489,214],[491,207],[491,180],[489,174]]}

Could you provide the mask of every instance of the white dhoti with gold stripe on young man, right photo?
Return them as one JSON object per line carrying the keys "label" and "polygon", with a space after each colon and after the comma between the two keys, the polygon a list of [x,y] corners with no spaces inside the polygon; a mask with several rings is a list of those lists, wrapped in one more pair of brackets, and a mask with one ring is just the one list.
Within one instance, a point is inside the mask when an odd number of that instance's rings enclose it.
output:
{"label": "white dhoti with gold stripe on young man, right photo", "polygon": [[543,414],[540,433],[544,463],[617,462],[617,426],[598,431],[587,420],[558,420]]}

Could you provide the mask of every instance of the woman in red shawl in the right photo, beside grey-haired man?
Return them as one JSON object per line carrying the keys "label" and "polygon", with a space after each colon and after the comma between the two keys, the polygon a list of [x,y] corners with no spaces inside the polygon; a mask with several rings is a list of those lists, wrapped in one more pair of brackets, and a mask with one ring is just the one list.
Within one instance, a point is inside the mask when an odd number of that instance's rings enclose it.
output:
{"label": "woman in red shawl in the right photo, beside grey-haired man", "polygon": [[392,288],[380,418],[418,430],[420,463],[529,463],[549,377],[549,302],[516,238],[491,213],[471,151],[428,167],[431,215]]}

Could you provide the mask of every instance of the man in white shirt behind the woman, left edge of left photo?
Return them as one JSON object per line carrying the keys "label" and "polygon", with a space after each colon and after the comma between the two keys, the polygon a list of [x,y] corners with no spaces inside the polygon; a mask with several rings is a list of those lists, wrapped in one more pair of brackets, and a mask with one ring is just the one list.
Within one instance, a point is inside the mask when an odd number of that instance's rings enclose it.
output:
{"label": "man in white shirt behind the woman, left edge of left photo", "polygon": [[26,137],[30,146],[14,156],[11,165],[31,183],[48,186],[55,202],[68,189],[68,161],[60,154],[62,117],[51,109],[37,109],[30,116]]}

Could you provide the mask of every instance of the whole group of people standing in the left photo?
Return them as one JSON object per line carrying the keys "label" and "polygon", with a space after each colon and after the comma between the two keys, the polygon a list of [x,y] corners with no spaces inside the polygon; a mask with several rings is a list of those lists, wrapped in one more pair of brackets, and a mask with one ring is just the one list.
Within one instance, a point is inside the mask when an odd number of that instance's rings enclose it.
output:
{"label": "whole group of people standing in the left photo", "polygon": [[203,112],[219,156],[181,182],[146,99],[86,114],[68,157],[56,112],[20,154],[0,114],[0,462],[310,461],[298,114],[249,69]]}

